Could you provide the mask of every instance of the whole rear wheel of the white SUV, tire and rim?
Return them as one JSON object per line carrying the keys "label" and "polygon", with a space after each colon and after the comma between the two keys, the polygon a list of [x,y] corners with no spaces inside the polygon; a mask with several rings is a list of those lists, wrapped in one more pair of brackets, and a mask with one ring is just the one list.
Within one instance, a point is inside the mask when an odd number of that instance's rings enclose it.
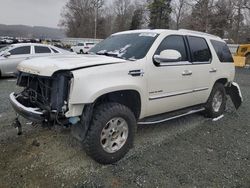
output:
{"label": "whole rear wheel of the white SUV, tire and rim", "polygon": [[206,104],[206,115],[210,118],[216,118],[222,115],[226,108],[226,91],[221,83],[216,83],[212,89]]}

